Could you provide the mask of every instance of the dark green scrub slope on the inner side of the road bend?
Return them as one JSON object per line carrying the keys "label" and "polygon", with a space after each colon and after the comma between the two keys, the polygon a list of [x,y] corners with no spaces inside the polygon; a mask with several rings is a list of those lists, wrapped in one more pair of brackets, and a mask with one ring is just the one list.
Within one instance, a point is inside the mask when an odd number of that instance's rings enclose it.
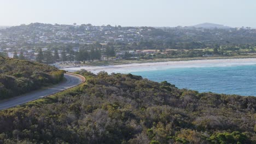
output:
{"label": "dark green scrub slope on the inner side of the road bend", "polygon": [[64,71],[47,65],[0,57],[0,99],[60,82],[63,73]]}

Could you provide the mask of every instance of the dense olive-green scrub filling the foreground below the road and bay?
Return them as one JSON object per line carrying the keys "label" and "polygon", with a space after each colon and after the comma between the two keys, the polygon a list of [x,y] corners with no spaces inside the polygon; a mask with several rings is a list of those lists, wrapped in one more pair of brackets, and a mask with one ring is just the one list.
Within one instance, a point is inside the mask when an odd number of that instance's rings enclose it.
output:
{"label": "dense olive-green scrub filling the foreground below the road and bay", "polygon": [[131,74],[0,111],[2,143],[255,143],[256,98],[198,93]]}

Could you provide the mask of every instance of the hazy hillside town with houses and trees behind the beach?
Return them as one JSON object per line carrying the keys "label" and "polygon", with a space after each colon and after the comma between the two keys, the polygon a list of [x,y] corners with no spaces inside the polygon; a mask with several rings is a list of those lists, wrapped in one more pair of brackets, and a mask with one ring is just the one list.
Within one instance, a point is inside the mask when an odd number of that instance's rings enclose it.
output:
{"label": "hazy hillside town with houses and trees behind the beach", "polygon": [[31,23],[2,27],[0,53],[46,64],[236,56],[252,55],[255,40],[256,30],[249,27],[206,29]]}

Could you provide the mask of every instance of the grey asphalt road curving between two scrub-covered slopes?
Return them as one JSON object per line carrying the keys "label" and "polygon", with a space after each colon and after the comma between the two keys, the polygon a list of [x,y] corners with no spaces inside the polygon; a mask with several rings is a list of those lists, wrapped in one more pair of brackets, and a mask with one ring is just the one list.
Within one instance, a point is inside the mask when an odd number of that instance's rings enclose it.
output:
{"label": "grey asphalt road curving between two scrub-covered slopes", "polygon": [[65,89],[74,87],[79,85],[80,83],[84,82],[84,79],[82,76],[79,75],[72,75],[72,74],[64,74],[64,77],[66,78],[65,82],[60,83],[59,85],[56,85],[54,87],[50,87],[47,89],[42,89],[39,91],[34,91],[31,93],[23,94],[16,98],[11,98],[4,100],[3,102],[0,102],[0,110],[8,109],[10,107],[14,107],[17,105],[25,104],[28,101],[40,99],[43,97],[46,97],[48,95],[61,92]]}

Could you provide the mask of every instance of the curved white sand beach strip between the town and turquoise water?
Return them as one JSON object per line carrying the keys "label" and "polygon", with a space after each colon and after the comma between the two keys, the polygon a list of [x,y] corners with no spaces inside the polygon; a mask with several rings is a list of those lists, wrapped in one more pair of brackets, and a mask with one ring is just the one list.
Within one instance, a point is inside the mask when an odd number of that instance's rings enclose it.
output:
{"label": "curved white sand beach strip between the town and turquoise water", "polygon": [[200,59],[191,61],[170,61],[155,63],[132,63],[104,66],[84,66],[75,68],[63,68],[66,71],[78,71],[85,69],[97,74],[100,71],[108,73],[131,73],[134,71],[164,70],[170,68],[199,68],[199,67],[231,67],[236,65],[255,65],[256,58],[234,58],[234,59]]}

